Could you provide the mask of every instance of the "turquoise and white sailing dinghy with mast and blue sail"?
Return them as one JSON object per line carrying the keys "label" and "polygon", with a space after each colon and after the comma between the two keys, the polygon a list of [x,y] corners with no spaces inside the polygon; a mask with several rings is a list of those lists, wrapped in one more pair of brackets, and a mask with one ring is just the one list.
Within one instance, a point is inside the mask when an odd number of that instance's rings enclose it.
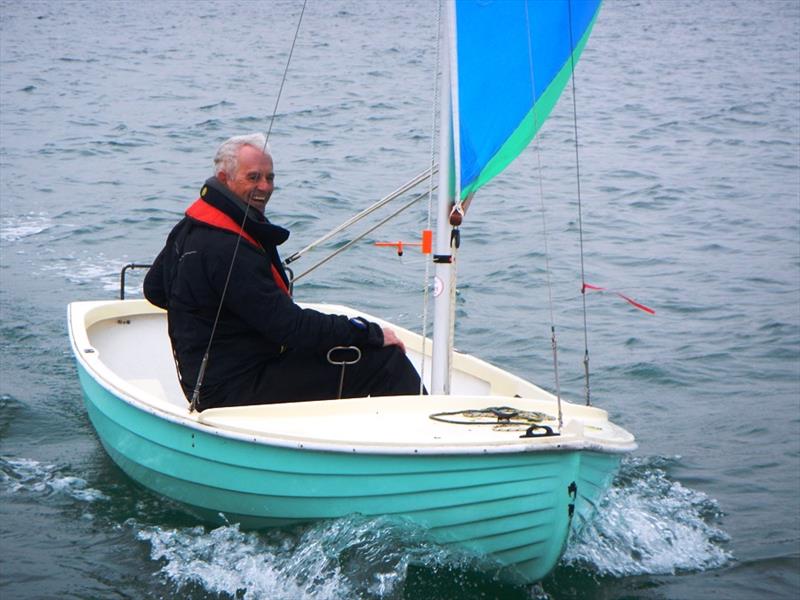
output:
{"label": "turquoise and white sailing dinghy with mast and blue sail", "polygon": [[450,216],[535,135],[598,4],[446,5],[433,342],[361,310],[304,305],[394,328],[431,395],[190,411],[164,311],[140,299],[73,302],[87,412],[114,462],[210,522],[393,515],[488,557],[503,578],[547,575],[636,444],[605,411],[448,345]]}

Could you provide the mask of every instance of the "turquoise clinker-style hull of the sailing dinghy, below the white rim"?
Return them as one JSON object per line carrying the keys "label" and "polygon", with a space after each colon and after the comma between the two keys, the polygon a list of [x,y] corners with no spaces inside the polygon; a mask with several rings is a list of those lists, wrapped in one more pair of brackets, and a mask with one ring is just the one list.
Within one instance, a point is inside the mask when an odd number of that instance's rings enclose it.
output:
{"label": "turquoise clinker-style hull of the sailing dinghy, below the white rim", "polygon": [[491,557],[515,581],[538,581],[555,567],[621,458],[588,450],[418,455],[276,446],[169,420],[116,396],[80,361],[78,372],[89,418],[114,462],[209,522],[254,529],[396,515],[438,543]]}

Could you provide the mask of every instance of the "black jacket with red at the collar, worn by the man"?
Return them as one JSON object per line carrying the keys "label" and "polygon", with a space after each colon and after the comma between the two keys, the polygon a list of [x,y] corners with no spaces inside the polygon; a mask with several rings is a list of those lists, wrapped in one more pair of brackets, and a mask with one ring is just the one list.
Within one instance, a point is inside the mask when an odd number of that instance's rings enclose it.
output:
{"label": "black jacket with red at the collar, worn by the man", "polygon": [[225,403],[287,348],[325,353],[339,345],[383,345],[383,332],[375,323],[295,304],[286,291],[288,279],[277,251],[289,232],[266,219],[244,219],[231,194],[216,178],[209,179],[144,280],[145,297],[168,311],[181,385],[191,398],[230,270],[201,409]]}

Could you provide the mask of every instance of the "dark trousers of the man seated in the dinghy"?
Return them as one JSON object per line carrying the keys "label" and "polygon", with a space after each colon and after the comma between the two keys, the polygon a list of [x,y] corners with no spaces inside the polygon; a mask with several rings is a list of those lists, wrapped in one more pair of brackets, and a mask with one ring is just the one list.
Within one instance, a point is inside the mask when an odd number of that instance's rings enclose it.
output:
{"label": "dark trousers of the man seated in the dinghy", "polygon": [[[330,400],[339,396],[341,376],[342,367],[330,364],[325,355],[288,350],[214,405]],[[415,395],[419,384],[417,370],[397,346],[366,348],[357,363],[345,367],[341,397]]]}

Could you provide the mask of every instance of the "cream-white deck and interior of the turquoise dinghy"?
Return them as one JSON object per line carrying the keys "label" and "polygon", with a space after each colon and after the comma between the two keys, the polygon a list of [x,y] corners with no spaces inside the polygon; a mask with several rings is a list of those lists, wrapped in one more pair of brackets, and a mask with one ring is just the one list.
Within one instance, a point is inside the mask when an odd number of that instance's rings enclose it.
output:
{"label": "cream-white deck and interior of the turquoise dinghy", "polygon": [[[311,308],[388,324],[335,305]],[[419,370],[422,338],[394,325]],[[165,418],[220,434],[302,448],[355,452],[519,452],[593,448],[626,452],[633,436],[610,423],[605,411],[562,403],[561,435],[520,438],[526,427],[442,423],[432,413],[512,406],[549,415],[558,430],[558,407],[548,392],[483,361],[454,357],[450,396],[356,398],[210,409],[190,414],[178,384],[165,313],[144,300],[80,302],[70,305],[70,335],[78,360],[116,396]],[[427,345],[430,352],[430,344]],[[426,361],[428,358],[426,358]],[[426,365],[426,374],[430,368]],[[426,375],[429,379],[429,375]],[[426,382],[429,384],[429,381]],[[453,417],[459,419],[460,417]]]}

